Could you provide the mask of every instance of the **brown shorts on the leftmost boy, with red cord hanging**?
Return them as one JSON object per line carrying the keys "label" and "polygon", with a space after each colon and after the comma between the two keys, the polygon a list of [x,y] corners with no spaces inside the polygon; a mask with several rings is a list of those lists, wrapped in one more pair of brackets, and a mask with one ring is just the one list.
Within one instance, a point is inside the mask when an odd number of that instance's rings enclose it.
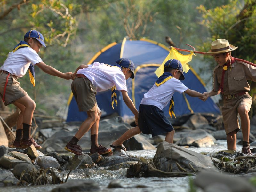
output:
{"label": "brown shorts on the leftmost boy, with red cord hanging", "polygon": [[[6,83],[6,78],[8,74],[6,73],[0,73],[0,96],[3,98],[4,94],[4,86]],[[5,90],[5,99],[4,99],[4,105],[7,106],[15,100],[20,99],[21,97],[24,97],[28,95],[24,89],[21,88],[20,83],[17,81],[17,78],[14,78],[12,75],[8,77],[8,83]]]}

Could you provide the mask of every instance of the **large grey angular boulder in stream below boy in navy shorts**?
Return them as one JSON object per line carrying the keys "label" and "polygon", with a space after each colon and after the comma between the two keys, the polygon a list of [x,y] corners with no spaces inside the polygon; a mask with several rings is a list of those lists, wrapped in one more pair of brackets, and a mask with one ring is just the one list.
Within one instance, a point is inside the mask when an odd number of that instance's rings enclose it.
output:
{"label": "large grey angular boulder in stream below boy in navy shorts", "polygon": [[218,170],[214,166],[211,157],[165,141],[158,145],[153,162],[157,169],[164,172],[180,172],[176,162],[189,172],[198,172],[205,169]]}

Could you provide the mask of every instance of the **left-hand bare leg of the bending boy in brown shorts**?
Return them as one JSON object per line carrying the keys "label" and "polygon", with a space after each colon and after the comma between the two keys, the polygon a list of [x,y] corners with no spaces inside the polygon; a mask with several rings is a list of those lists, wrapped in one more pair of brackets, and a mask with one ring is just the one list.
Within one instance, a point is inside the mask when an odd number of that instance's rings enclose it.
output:
{"label": "left-hand bare leg of the bending boy in brown shorts", "polygon": [[99,115],[97,113],[97,110],[95,111],[87,111],[87,119],[80,125],[79,130],[76,132],[75,137],[77,139],[81,139],[83,135],[89,131],[89,129],[92,127],[92,125],[99,120]]}

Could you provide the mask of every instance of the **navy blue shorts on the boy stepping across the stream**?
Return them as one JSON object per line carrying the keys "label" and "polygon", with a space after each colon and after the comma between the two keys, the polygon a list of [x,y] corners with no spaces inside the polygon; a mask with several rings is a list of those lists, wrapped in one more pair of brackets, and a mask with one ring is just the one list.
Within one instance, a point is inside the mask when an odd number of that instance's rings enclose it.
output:
{"label": "navy blue shorts on the boy stepping across the stream", "polygon": [[152,134],[152,137],[174,130],[164,112],[154,105],[140,104],[138,124],[142,133]]}

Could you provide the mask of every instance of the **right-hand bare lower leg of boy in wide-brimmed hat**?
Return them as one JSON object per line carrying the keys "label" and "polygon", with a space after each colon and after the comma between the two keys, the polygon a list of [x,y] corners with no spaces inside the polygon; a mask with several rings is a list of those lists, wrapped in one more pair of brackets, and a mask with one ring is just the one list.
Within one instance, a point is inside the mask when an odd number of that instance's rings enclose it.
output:
{"label": "right-hand bare lower leg of boy in wide-brimmed hat", "polygon": [[246,105],[240,105],[238,107],[238,113],[241,117],[241,129],[243,134],[243,141],[249,141],[250,118],[248,115],[248,107]]}

